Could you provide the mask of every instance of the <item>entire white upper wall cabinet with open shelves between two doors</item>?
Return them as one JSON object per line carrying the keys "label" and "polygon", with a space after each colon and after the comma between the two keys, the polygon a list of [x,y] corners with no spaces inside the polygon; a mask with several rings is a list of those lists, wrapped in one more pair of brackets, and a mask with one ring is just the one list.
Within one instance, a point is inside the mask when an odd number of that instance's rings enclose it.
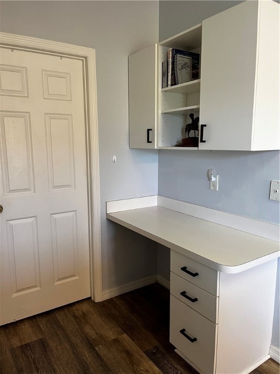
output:
{"label": "entire white upper wall cabinet with open shelves between two doors", "polygon": [[[279,16],[272,0],[245,1],[129,56],[130,147],[280,149]],[[169,48],[200,53],[200,79],[162,89]],[[199,146],[175,147],[190,113]]]}

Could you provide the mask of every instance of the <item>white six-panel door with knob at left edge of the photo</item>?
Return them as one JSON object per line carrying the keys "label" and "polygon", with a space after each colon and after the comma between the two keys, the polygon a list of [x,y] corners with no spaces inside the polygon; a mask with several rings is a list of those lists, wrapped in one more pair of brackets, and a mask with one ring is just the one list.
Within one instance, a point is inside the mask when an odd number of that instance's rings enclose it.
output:
{"label": "white six-panel door with knob at left edge of the photo", "polygon": [[82,61],[1,48],[0,324],[90,296]]}

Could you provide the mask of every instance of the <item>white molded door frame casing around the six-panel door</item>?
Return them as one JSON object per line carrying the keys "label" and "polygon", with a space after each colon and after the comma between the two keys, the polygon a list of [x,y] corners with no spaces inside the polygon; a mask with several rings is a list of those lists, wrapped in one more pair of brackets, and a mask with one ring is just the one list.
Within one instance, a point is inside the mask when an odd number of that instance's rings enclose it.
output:
{"label": "white molded door frame casing around the six-panel door", "polygon": [[52,40],[0,32],[0,46],[82,60],[85,93],[85,123],[88,177],[88,231],[90,295],[102,301],[100,182],[97,122],[95,50]]}

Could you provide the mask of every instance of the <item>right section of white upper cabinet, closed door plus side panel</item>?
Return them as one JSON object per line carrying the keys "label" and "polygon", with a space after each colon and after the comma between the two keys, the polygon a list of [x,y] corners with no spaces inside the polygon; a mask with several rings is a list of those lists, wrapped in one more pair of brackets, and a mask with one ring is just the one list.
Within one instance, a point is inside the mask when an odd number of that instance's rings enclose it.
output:
{"label": "right section of white upper cabinet, closed door plus side panel", "polygon": [[199,149],[280,149],[279,9],[245,1],[202,22]]}

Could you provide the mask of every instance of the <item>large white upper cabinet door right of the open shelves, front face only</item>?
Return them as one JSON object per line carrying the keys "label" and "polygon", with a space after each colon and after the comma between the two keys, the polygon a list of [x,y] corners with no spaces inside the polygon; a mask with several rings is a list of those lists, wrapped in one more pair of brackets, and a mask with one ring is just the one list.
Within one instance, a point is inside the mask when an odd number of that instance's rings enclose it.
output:
{"label": "large white upper cabinet door right of the open shelves, front face only", "polygon": [[258,1],[202,22],[201,150],[251,150],[257,29]]}

